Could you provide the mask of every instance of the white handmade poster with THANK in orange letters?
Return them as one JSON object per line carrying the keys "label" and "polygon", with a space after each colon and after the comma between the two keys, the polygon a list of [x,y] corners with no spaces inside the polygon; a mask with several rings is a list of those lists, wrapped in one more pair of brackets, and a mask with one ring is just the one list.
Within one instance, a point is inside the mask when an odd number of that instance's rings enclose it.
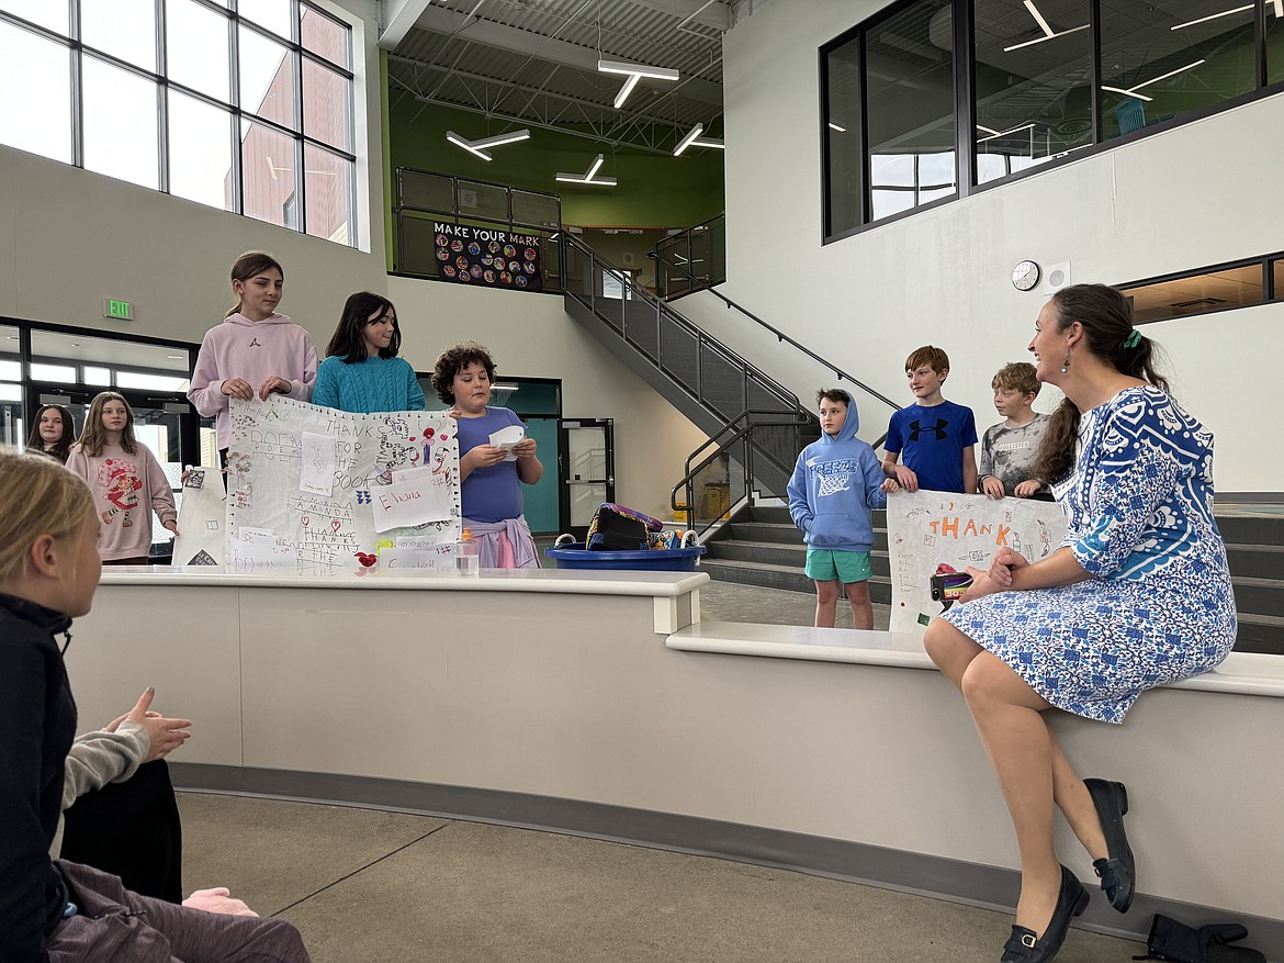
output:
{"label": "white handmade poster with THANK in orange letters", "polygon": [[887,496],[891,630],[923,632],[954,603],[960,574],[987,569],[1000,548],[1034,562],[1064,537],[1066,517],[1054,502],[923,490]]}

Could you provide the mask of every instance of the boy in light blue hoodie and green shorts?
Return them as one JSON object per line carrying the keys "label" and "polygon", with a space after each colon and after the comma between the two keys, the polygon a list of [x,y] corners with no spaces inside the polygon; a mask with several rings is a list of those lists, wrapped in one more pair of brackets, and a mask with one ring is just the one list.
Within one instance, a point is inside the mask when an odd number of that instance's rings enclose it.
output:
{"label": "boy in light blue hoodie and green shorts", "polygon": [[869,551],[874,528],[869,512],[887,505],[896,479],[885,478],[874,449],[856,438],[856,401],[842,388],[815,394],[820,408],[819,442],[799,455],[790,479],[790,516],[806,542],[806,574],[815,582],[815,624],[833,628],[838,582],[851,605],[851,625],[874,627],[869,601]]}

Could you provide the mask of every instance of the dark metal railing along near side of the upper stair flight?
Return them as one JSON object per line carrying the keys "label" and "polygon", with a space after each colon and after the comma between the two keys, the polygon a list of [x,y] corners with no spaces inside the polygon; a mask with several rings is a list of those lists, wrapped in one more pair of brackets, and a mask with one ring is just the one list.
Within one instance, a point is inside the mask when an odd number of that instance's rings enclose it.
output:
{"label": "dark metal railing along near side of the upper stair flight", "polygon": [[[776,417],[794,417],[795,412],[811,417],[796,395],[650,294],[628,272],[575,238],[564,234],[562,241],[568,250],[562,258],[566,297],[584,304],[609,325],[715,424],[725,424],[747,410],[770,412]],[[603,293],[607,281],[612,286],[610,294]],[[759,453],[769,462],[778,461],[772,451]],[[787,469],[791,464],[779,467]]]}

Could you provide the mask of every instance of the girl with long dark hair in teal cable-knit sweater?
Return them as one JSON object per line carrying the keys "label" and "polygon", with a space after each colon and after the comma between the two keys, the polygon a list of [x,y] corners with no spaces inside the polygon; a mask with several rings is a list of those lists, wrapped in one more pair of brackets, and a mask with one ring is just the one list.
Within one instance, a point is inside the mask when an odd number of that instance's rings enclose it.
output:
{"label": "girl with long dark hair in teal cable-knit sweater", "polygon": [[392,302],[370,291],[353,294],[317,369],[312,403],[354,415],[424,411],[424,389],[410,362],[397,357],[399,348]]}

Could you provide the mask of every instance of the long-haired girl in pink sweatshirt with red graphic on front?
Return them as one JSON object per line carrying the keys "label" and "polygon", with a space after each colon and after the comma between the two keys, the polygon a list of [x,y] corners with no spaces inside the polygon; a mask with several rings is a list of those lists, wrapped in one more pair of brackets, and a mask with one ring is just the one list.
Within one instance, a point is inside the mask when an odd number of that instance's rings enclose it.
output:
{"label": "long-haired girl in pink sweatshirt with red graphic on front", "polygon": [[85,430],[67,456],[68,471],[94,493],[103,519],[98,553],[105,565],[146,565],[152,551],[152,512],[178,534],[169,479],[155,456],[134,437],[134,412],[116,392],[101,392],[89,406]]}

